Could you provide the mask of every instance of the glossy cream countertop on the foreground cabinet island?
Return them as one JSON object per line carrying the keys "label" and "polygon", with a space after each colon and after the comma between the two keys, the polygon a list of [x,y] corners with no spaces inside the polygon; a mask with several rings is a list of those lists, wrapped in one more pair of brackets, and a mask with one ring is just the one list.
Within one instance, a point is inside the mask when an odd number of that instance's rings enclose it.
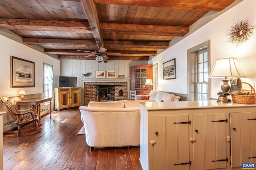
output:
{"label": "glossy cream countertop on the foreground cabinet island", "polygon": [[227,108],[227,107],[256,107],[256,104],[218,104],[216,100],[207,101],[179,101],[179,102],[142,102],[139,103],[146,110],[175,110],[175,109],[200,109],[200,108]]}

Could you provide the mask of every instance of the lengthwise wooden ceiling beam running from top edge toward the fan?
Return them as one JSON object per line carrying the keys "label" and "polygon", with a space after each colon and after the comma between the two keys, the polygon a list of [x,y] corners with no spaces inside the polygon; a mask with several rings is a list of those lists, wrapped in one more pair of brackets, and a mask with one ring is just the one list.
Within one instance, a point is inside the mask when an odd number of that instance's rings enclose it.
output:
{"label": "lengthwise wooden ceiling beam running from top edge toward the fan", "polygon": [[103,38],[100,33],[100,21],[93,0],[81,0],[82,7],[90,24],[92,34],[98,47],[104,47]]}

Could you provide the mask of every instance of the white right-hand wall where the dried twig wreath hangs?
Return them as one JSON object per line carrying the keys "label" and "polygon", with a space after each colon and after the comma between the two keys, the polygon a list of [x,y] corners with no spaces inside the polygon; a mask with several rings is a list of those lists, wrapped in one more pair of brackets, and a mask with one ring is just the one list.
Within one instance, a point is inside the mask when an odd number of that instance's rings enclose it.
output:
{"label": "white right-hand wall where the dried twig wreath hangs", "polygon": [[[188,94],[187,50],[210,40],[211,66],[216,59],[236,57],[246,78],[243,82],[256,82],[256,1],[244,0],[214,20],[206,23],[198,30],[190,33],[181,41],[175,43],[164,52],[160,53],[148,63],[158,63],[158,90]],[[236,47],[236,44],[227,42],[226,36],[230,26],[238,20],[248,19],[254,26],[253,35],[248,41]],[[200,22],[200,20],[198,20]],[[163,80],[163,63],[176,58],[176,79]],[[220,92],[222,78],[212,78],[211,97],[217,98]]]}

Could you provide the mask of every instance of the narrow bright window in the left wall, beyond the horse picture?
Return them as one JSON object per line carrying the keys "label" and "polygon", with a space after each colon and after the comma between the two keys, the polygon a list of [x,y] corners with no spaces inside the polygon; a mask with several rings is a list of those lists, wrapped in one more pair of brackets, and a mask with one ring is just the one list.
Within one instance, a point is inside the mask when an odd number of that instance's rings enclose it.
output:
{"label": "narrow bright window in the left wall, beyond the horse picture", "polygon": [[[51,98],[53,93],[53,66],[44,63],[44,97]],[[45,105],[50,102],[45,102]]]}

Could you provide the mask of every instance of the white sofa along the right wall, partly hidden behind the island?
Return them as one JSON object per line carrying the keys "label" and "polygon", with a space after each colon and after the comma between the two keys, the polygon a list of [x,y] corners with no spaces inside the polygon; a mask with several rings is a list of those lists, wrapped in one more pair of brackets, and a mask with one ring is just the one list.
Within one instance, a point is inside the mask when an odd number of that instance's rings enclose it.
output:
{"label": "white sofa along the right wall, partly hidden behind the island", "polygon": [[[146,95],[136,95],[135,100],[142,100],[142,96]],[[156,100],[156,102],[178,102],[180,100],[180,96],[176,96],[167,92],[151,90],[149,99]]]}

